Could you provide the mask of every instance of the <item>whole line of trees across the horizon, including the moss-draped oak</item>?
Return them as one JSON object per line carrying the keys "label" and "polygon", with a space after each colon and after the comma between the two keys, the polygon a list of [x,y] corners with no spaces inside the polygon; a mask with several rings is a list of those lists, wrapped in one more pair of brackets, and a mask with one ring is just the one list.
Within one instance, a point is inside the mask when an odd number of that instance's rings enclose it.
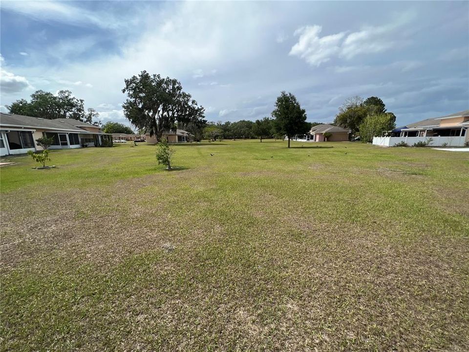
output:
{"label": "whole line of trees across the horizon, including the moss-draped oak", "polygon": [[[216,139],[287,138],[306,134],[319,122],[307,122],[306,111],[301,108],[292,93],[282,91],[275,102],[271,117],[256,121],[207,122],[205,108],[197,104],[192,95],[185,92],[181,83],[170,77],[142,71],[125,80],[123,93],[127,99],[122,105],[128,121],[141,133],[149,133],[161,139],[163,132],[186,130],[195,136]],[[7,106],[10,113],[42,117],[45,119],[73,118],[97,126],[99,113],[84,108],[84,100],[72,95],[69,90],[60,90],[57,95],[43,90],[31,94],[31,100],[20,99]],[[352,97],[345,100],[332,125],[349,129],[352,136],[359,135],[363,142],[373,136],[395,128],[396,116],[388,112],[382,99],[372,96],[367,99]],[[133,133],[128,126],[107,122],[103,126],[107,133]]]}

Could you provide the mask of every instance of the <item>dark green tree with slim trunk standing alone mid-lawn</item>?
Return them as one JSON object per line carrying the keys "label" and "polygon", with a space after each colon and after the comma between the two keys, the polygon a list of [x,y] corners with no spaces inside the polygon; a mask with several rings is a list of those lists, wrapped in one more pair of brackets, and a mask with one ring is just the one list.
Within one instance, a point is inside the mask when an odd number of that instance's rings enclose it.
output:
{"label": "dark green tree with slim trunk standing alone mid-lawn", "polygon": [[290,139],[295,134],[308,132],[306,111],[301,109],[297,98],[292,93],[281,92],[275,103],[275,110],[272,111],[272,117],[275,118],[276,132],[288,137],[288,148],[290,148]]}

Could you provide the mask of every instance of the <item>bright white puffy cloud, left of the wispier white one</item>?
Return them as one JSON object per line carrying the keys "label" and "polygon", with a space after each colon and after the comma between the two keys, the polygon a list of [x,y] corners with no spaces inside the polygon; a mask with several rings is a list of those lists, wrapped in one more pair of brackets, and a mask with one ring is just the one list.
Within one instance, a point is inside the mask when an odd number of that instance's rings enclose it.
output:
{"label": "bright white puffy cloud, left of the wispier white one", "polygon": [[319,25],[298,28],[294,36],[299,36],[298,43],[293,45],[289,55],[299,56],[308,64],[320,66],[340,52],[340,42],[345,33],[320,37],[322,27]]}

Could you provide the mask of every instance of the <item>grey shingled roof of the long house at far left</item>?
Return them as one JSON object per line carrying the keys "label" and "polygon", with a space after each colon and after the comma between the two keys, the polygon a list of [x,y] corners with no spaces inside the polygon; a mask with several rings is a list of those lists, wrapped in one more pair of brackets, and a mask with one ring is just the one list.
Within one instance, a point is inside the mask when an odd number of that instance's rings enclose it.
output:
{"label": "grey shingled roof of the long house at far left", "polygon": [[[66,131],[66,132],[78,132],[78,133],[93,133],[81,129],[77,126],[83,127],[97,127],[94,125],[87,124],[74,119],[43,119],[41,117],[25,116],[18,114],[9,114],[9,113],[0,113],[0,126],[2,128],[7,128],[10,126],[12,128],[32,128],[32,129],[42,129],[42,130],[51,130],[51,131]],[[99,131],[99,133],[103,133]]]}

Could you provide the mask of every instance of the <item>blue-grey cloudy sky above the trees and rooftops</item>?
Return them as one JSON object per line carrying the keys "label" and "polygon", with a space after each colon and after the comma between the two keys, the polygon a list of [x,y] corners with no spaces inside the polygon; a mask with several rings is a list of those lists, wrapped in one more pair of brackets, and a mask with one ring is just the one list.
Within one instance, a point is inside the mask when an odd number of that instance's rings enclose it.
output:
{"label": "blue-grey cloudy sky above the trees and rooftops", "polygon": [[1,1],[1,109],[70,89],[126,123],[124,79],[181,81],[210,121],[270,115],[281,90],[308,121],[375,95],[398,125],[469,109],[469,2]]}

